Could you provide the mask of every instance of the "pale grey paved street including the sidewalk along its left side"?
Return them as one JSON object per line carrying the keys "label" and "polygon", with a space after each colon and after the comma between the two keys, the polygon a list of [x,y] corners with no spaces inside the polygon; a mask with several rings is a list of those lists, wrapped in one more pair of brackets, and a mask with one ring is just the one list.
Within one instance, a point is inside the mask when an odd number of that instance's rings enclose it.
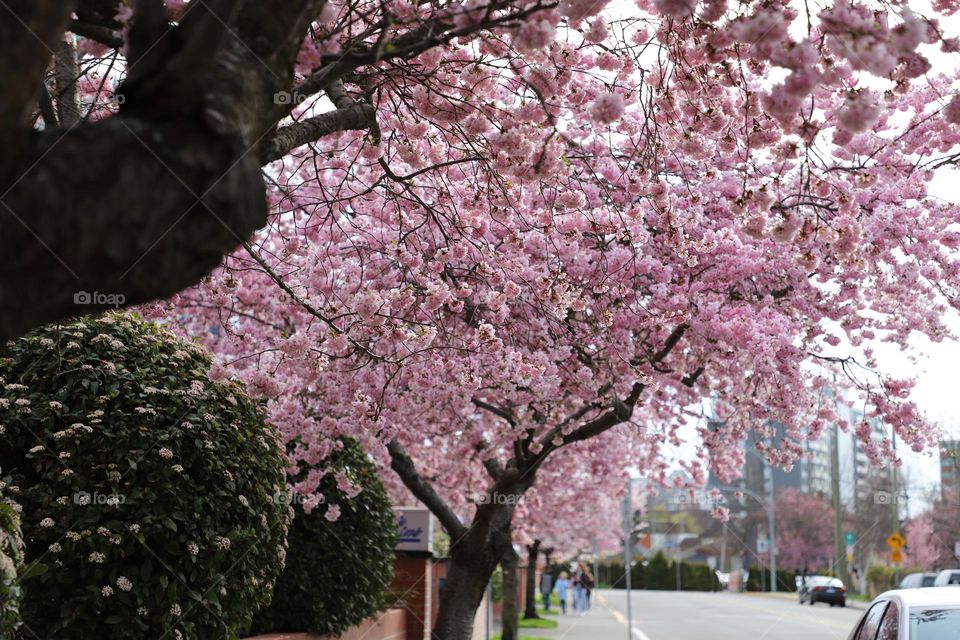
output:
{"label": "pale grey paved street including the sidewalk along its left side", "polygon": [[862,610],[731,593],[633,593],[633,633],[628,637],[623,591],[594,592],[584,617],[558,616],[551,631],[523,635],[563,640],[846,640]]}

